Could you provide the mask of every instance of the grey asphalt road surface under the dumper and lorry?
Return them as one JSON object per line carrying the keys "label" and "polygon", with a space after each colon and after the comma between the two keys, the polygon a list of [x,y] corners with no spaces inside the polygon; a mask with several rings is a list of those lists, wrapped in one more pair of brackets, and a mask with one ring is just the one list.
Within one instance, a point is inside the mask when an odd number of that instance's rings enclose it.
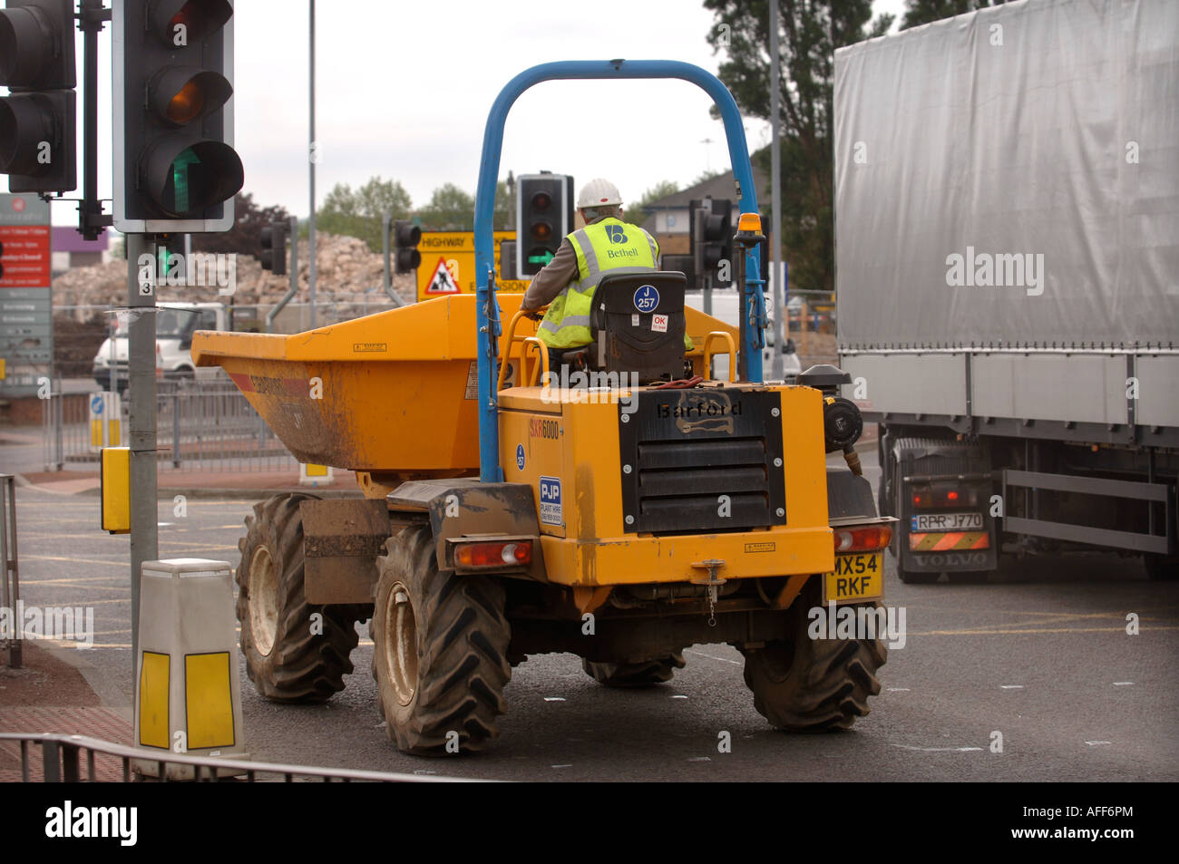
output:
{"label": "grey asphalt road surface under the dumper and lorry", "polygon": [[[94,497],[20,489],[18,501],[24,599],[93,607],[95,647],[83,658],[108,682],[103,695],[126,704],[127,539],[98,530]],[[190,500],[179,517],[162,504],[162,556],[236,566],[249,508]],[[1147,581],[1135,559],[1074,555],[1014,561],[986,585],[907,586],[885,558],[885,602],[904,608],[907,644],[849,732],[776,732],[753,710],[740,655],[698,645],[672,682],[647,691],[601,687],[569,654],[533,657],[513,672],[488,752],[408,757],[377,715],[361,626],[356,672],[328,705],[268,703],[243,668],[248,746],[264,760],[515,780],[1179,779],[1179,585]]]}

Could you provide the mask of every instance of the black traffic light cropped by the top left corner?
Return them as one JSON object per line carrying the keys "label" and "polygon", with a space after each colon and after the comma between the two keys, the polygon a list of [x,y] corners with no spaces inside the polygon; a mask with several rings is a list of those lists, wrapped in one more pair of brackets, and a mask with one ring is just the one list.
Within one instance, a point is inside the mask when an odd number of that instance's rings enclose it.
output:
{"label": "black traffic light cropped by the top left corner", "polygon": [[11,192],[78,187],[73,0],[0,9],[0,173]]}

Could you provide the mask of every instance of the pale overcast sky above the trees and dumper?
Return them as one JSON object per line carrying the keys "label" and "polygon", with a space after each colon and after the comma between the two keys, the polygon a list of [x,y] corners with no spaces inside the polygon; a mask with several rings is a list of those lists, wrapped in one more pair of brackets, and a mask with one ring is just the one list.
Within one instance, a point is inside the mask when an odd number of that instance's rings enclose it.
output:
{"label": "pale overcast sky above the trees and dumper", "polygon": [[[903,0],[875,0],[900,12]],[[716,72],[706,35],[713,14],[693,0],[620,4],[446,0],[318,0],[317,200],[337,183],[395,178],[415,205],[443,183],[474,192],[487,112],[518,72],[551,60],[670,59]],[[261,205],[305,217],[308,183],[308,2],[235,4],[236,149],[245,191]],[[110,198],[110,28],[99,40],[99,194]],[[81,38],[77,44],[79,119]],[[0,90],[2,92],[2,90]],[[624,200],[659,180],[691,183],[729,167],[711,100],[685,81],[549,81],[508,114],[500,174],[571,173],[580,185],[612,179]],[[747,119],[750,151],[768,124]],[[80,132],[80,130],[79,130]],[[80,160],[79,138],[79,160]],[[0,176],[7,189],[7,177]],[[81,167],[79,163],[79,186]],[[107,211],[110,206],[107,205]],[[53,222],[77,224],[73,204]]]}

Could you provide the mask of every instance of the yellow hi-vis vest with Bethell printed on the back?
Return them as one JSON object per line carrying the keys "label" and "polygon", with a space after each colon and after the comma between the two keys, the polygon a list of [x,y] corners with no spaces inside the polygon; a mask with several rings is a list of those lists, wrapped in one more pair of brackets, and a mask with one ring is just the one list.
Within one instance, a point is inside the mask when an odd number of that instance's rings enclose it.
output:
{"label": "yellow hi-vis vest with Bethell printed on the back", "polygon": [[536,335],[549,348],[586,345],[593,292],[607,273],[658,270],[659,244],[638,225],[608,217],[567,238],[578,255],[578,278],[553,298]]}

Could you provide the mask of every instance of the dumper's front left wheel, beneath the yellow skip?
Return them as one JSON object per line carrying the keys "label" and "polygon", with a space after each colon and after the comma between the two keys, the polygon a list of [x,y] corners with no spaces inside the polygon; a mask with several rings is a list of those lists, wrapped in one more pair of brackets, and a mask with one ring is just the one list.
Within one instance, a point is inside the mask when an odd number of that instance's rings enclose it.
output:
{"label": "dumper's front left wheel, beneath the yellow skip", "polygon": [[353,607],[314,606],[303,593],[298,506],[314,497],[285,494],[255,504],[237,545],[237,620],[246,673],[258,693],[284,703],[322,703],[342,691],[358,641]]}

